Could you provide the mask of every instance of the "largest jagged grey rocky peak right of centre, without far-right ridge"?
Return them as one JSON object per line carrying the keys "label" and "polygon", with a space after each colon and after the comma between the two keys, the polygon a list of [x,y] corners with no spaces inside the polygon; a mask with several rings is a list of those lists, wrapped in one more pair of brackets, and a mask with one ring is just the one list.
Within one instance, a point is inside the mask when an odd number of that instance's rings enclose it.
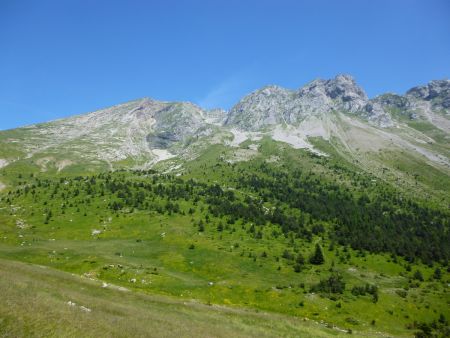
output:
{"label": "largest jagged grey rocky peak right of centre, without far-right ridge", "polygon": [[278,86],[264,87],[236,104],[225,124],[256,131],[282,123],[298,125],[309,116],[333,111],[360,115],[382,127],[393,125],[383,106],[371,102],[350,75],[314,80],[297,91]]}

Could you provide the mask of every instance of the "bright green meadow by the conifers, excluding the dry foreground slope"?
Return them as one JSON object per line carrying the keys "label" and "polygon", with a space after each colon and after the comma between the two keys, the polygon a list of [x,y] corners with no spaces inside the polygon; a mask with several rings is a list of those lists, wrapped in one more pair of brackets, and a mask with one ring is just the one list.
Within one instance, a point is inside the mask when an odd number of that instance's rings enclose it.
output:
{"label": "bright green meadow by the conifers, excluding the dry foreground slope", "polygon": [[[221,146],[211,147],[187,166],[184,176],[226,184],[226,173],[223,169],[216,170],[214,163],[230,156],[229,151]],[[323,159],[310,157],[303,151],[266,142],[261,153],[261,158],[241,163],[242,169],[250,170],[259,161],[278,154],[291,166],[322,172],[324,178],[340,179],[345,184],[345,175],[328,172],[321,164]],[[51,201],[55,206],[61,202]],[[89,207],[81,207],[80,212],[71,208],[64,215],[55,215],[48,225],[43,224],[43,210],[39,206],[35,206],[33,215],[30,200],[24,201],[23,206],[23,209],[0,210],[1,257],[47,265],[76,275],[85,274],[145,293],[313,318],[342,329],[351,328],[358,334],[377,335],[381,331],[411,335],[412,331],[405,327],[413,320],[430,321],[440,313],[449,317],[450,300],[444,283],[423,282],[419,288],[409,289],[406,298],[396,294],[397,290],[407,287],[410,274],[405,271],[404,262],[394,263],[388,255],[357,257],[349,250],[351,259],[342,260],[343,248],[325,250],[324,266],[310,266],[295,273],[288,262],[277,259],[289,240],[283,236],[271,237],[271,231],[275,230],[271,227],[266,228],[263,240],[257,241],[242,229],[241,223],[235,226],[234,232],[218,234],[214,227],[207,227],[205,233],[198,233],[193,221],[203,217],[202,213],[195,214],[192,220],[190,216],[134,212],[112,217],[106,231],[92,236],[92,230],[103,229],[104,220],[111,216],[100,200],[93,201]],[[26,220],[29,226],[18,228],[18,219]],[[244,224],[246,227],[248,225]],[[312,243],[297,239],[295,246],[307,257],[317,241],[321,241],[324,248],[329,244],[326,238],[315,237]],[[195,245],[194,250],[188,248],[190,244]],[[263,251],[268,253],[267,258],[261,257]],[[364,283],[378,285],[378,304],[373,304],[367,296],[358,298],[348,291],[337,301],[309,293],[313,284],[329,275],[332,261],[343,274],[347,289]],[[433,271],[420,264],[415,265],[413,271],[415,269],[420,269],[426,280]],[[131,282],[133,278],[136,283]],[[445,274],[443,280],[448,278]],[[372,320],[375,320],[374,326],[370,324]],[[221,331],[213,328],[211,332]]]}

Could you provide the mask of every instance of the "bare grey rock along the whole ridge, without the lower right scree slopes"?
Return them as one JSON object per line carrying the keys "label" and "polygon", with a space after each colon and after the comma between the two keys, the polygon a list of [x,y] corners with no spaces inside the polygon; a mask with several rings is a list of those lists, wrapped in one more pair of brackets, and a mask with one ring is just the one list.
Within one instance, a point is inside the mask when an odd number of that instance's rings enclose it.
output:
{"label": "bare grey rock along the whole ridge, without the lower right scree slopes", "polygon": [[228,112],[144,98],[0,132],[0,168],[21,156],[43,168],[53,161],[58,170],[68,163],[151,166],[182,154],[191,144],[227,144],[230,132],[235,137],[232,146],[263,133],[296,147],[312,147],[310,137],[329,140],[336,135],[343,135],[342,142],[348,145],[346,131],[337,131],[342,120],[373,133],[379,128],[390,133],[393,126],[398,130],[417,120],[450,134],[450,81],[431,81],[403,96],[388,93],[369,99],[350,75],[338,75],[314,80],[297,90],[266,86],[242,98]]}

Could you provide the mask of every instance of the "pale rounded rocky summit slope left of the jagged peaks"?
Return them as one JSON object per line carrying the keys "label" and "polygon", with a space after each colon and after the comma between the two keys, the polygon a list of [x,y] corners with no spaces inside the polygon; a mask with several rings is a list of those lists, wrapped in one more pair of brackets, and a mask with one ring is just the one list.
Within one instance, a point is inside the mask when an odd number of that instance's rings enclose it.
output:
{"label": "pale rounded rocky summit slope left of the jagged peaks", "polygon": [[28,157],[67,151],[75,158],[108,163],[152,159],[154,149],[169,149],[210,132],[204,111],[189,102],[130,101],[85,115],[21,128]]}

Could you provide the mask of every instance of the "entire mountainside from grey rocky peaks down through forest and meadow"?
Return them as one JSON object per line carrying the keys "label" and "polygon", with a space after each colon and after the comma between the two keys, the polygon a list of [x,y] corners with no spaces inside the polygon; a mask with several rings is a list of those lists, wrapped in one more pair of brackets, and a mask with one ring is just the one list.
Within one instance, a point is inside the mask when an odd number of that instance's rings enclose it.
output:
{"label": "entire mountainside from grey rocky peaks down through forest and meadow", "polygon": [[77,334],[51,304],[96,336],[448,336],[448,86],[369,99],[345,75],[0,132],[0,333]]}

